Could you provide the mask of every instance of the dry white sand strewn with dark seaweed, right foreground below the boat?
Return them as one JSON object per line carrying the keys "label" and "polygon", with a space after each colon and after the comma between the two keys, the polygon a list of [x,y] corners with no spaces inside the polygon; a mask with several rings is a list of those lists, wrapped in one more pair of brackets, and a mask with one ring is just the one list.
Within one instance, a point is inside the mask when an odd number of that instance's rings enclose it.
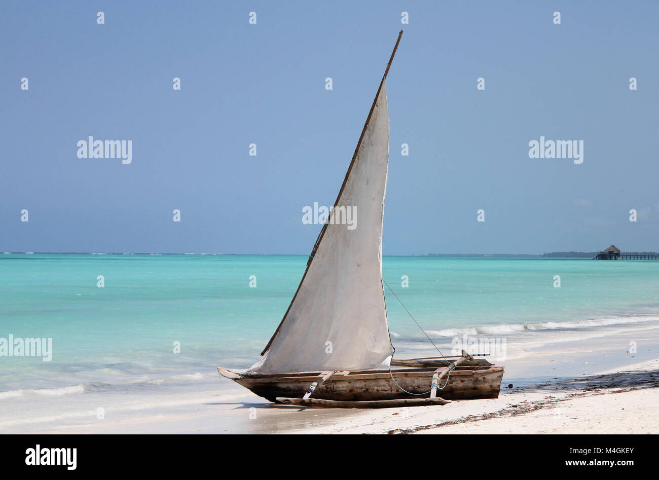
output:
{"label": "dry white sand strewn with dark seaweed, right foreground below the boat", "polygon": [[[659,359],[586,379],[502,392],[496,400],[371,411],[302,433],[656,433]],[[395,410],[395,411],[394,411]],[[300,432],[300,431],[299,431]]]}

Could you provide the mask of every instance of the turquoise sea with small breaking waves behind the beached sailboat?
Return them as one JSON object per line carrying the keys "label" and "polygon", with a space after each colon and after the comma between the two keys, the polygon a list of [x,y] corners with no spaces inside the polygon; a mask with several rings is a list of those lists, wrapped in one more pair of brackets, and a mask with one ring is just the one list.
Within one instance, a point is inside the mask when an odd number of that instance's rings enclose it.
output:
{"label": "turquoise sea with small breaking waves behind the beached sailboat", "polygon": [[[463,332],[535,341],[659,315],[659,262],[388,256],[383,264],[386,282],[440,343]],[[305,265],[306,256],[0,253],[0,338],[53,339],[49,362],[0,357],[0,392],[246,368]],[[425,346],[386,294],[393,344]]]}

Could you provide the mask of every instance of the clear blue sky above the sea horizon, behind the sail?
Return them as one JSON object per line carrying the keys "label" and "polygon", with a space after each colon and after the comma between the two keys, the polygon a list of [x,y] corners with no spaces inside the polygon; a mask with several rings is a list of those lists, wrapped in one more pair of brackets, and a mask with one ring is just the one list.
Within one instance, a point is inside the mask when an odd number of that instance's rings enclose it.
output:
{"label": "clear blue sky above the sea horizon, behind the sail", "polygon": [[659,250],[657,1],[137,4],[3,5],[0,251],[308,253],[401,28],[384,255]]}

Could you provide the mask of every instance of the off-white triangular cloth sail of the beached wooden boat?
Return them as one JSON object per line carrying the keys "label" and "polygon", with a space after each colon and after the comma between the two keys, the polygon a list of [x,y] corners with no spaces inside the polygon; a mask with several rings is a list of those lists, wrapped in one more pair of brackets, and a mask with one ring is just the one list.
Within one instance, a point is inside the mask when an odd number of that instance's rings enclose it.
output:
{"label": "off-white triangular cloth sail of the beached wooden boat", "polygon": [[[382,365],[393,354],[382,288],[388,163],[389,116],[383,81],[314,258],[279,329],[249,371],[363,370]],[[347,209],[354,225],[339,222]]]}

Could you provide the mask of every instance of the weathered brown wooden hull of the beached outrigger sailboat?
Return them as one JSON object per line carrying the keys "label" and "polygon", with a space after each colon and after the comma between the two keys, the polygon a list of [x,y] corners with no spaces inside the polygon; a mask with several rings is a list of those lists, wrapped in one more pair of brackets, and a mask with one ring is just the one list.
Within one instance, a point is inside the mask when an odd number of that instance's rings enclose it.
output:
{"label": "weathered brown wooden hull of the beached outrigger sailboat", "polygon": [[[239,375],[218,368],[221,375],[231,378],[256,395],[279,403],[277,397],[302,398],[310,384],[321,375],[313,373]],[[373,400],[400,400],[406,398],[430,398],[430,384],[436,367],[414,369],[371,370],[334,375],[322,382],[313,393],[319,400],[337,402],[368,402]],[[398,385],[411,392],[403,392]],[[457,367],[451,371],[447,385],[437,390],[437,396],[445,400],[468,400],[474,398],[498,398],[503,378],[503,367],[477,366]],[[446,377],[440,379],[440,386]],[[427,392],[427,393],[426,393]],[[413,395],[416,394],[416,395]]]}

